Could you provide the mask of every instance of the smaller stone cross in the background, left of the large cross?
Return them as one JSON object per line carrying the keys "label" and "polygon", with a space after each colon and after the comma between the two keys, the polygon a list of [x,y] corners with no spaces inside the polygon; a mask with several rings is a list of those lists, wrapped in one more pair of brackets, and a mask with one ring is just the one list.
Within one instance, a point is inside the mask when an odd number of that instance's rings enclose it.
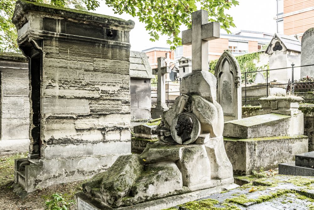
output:
{"label": "smaller stone cross in the background, left of the large cross", "polygon": [[170,73],[171,69],[169,65],[165,63],[165,57],[159,57],[158,67],[153,69],[153,74],[158,75],[158,86],[157,86],[157,105],[156,109],[168,109],[166,105],[166,84],[165,74]]}

